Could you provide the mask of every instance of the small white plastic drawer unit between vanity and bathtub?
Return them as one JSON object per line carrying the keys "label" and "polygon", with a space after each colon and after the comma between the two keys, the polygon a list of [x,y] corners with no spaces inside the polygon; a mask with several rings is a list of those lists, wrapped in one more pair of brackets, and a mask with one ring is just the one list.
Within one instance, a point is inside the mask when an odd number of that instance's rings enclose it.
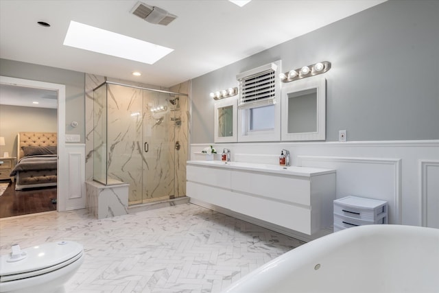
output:
{"label": "small white plastic drawer unit between vanity and bathtub", "polygon": [[371,224],[388,224],[386,201],[357,196],[334,200],[334,232]]}

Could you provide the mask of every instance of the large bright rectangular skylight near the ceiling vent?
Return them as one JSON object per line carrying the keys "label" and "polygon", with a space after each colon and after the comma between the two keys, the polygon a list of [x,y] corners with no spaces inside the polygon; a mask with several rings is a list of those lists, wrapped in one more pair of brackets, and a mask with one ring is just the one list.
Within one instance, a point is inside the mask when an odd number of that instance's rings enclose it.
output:
{"label": "large bright rectangular skylight near the ceiling vent", "polygon": [[75,21],[70,21],[63,45],[146,64],[154,64],[174,51],[174,49]]}

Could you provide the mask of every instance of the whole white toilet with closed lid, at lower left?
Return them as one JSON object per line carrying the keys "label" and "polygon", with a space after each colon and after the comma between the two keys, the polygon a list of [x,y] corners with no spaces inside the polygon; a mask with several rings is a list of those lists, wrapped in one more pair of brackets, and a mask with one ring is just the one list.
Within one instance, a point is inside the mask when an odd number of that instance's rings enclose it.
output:
{"label": "whole white toilet with closed lid, at lower left", "polygon": [[64,292],[66,283],[84,261],[84,248],[72,241],[41,244],[0,257],[0,292]]}

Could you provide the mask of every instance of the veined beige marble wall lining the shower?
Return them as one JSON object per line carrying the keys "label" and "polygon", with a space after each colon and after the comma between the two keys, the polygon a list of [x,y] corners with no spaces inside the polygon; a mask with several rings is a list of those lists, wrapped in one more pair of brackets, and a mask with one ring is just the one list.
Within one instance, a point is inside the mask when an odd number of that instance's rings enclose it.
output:
{"label": "veined beige marble wall lining the shower", "polygon": [[[105,80],[97,75],[86,75],[86,180],[93,180],[93,156],[96,157],[98,150],[93,146],[93,130],[99,130],[93,124],[93,89]],[[111,81],[157,89],[145,84]],[[190,118],[188,98],[128,86],[107,86],[110,180],[130,185],[130,204],[185,196]],[[180,93],[187,93],[189,82],[178,85],[177,89],[181,90]],[[176,97],[179,107],[169,102]],[[150,109],[156,106],[167,106],[168,110],[152,113]],[[180,126],[176,125],[178,120],[175,118],[180,118]],[[179,141],[180,150],[175,149],[175,141]],[[144,152],[145,142],[148,152]]]}

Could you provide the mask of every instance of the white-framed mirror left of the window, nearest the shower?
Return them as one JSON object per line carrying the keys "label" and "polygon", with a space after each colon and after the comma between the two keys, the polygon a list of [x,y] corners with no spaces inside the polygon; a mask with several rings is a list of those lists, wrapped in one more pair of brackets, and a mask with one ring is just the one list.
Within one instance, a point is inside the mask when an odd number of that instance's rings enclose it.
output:
{"label": "white-framed mirror left of the window, nearest the shower", "polygon": [[237,141],[237,97],[215,102],[215,143]]}

